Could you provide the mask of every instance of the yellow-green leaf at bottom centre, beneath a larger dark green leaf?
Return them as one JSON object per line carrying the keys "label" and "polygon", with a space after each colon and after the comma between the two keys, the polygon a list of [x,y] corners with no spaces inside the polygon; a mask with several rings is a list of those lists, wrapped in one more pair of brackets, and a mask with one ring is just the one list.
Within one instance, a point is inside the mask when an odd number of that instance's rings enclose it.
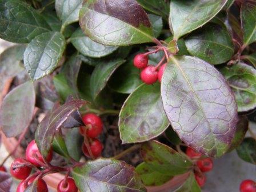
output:
{"label": "yellow-green leaf at bottom centre, beneath a larger dark green leaf", "polygon": [[136,172],[141,177],[142,182],[146,186],[158,186],[169,181],[173,176],[159,173],[157,170],[151,169],[151,166],[142,162],[136,167]]}

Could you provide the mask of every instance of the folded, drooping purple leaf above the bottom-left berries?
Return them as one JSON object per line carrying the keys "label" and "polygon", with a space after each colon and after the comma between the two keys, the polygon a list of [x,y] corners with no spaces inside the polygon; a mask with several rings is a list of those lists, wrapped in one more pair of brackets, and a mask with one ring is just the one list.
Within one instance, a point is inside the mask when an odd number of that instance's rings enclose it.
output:
{"label": "folded, drooping purple leaf above the bottom-left berries", "polygon": [[69,98],[62,106],[54,106],[45,118],[39,123],[35,131],[35,141],[43,157],[47,157],[54,139],[55,133],[74,111],[78,110],[85,101]]}

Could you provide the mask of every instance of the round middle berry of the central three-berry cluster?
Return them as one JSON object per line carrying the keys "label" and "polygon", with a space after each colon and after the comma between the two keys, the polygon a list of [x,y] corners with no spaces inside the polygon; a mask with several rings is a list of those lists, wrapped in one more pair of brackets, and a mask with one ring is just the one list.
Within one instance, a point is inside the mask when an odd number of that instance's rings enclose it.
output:
{"label": "round middle berry of the central three-berry cluster", "polygon": [[158,72],[155,66],[149,65],[141,71],[141,80],[148,85],[157,82]]}

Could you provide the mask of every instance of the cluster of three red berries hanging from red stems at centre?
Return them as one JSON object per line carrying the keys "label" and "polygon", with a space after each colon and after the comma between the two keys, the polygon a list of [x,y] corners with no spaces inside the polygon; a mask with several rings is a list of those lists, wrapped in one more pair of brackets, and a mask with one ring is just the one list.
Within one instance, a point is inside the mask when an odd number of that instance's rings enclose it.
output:
{"label": "cluster of three red berries hanging from red stems at centre", "polygon": [[166,63],[163,64],[158,70],[158,66],[148,65],[149,58],[147,57],[147,55],[147,53],[137,54],[133,60],[134,66],[138,69],[142,69],[141,80],[148,85],[157,82],[157,79],[159,82],[161,82]]}

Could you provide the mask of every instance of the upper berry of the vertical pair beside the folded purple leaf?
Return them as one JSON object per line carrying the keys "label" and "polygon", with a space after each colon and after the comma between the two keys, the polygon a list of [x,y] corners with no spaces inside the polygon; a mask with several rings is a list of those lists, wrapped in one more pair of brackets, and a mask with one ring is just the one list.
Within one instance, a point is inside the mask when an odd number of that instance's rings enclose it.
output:
{"label": "upper berry of the vertical pair beside the folded purple leaf", "polygon": [[83,115],[82,119],[87,127],[80,127],[80,133],[84,134],[86,129],[86,135],[90,138],[95,138],[101,134],[103,129],[101,118],[94,113],[87,113]]}

